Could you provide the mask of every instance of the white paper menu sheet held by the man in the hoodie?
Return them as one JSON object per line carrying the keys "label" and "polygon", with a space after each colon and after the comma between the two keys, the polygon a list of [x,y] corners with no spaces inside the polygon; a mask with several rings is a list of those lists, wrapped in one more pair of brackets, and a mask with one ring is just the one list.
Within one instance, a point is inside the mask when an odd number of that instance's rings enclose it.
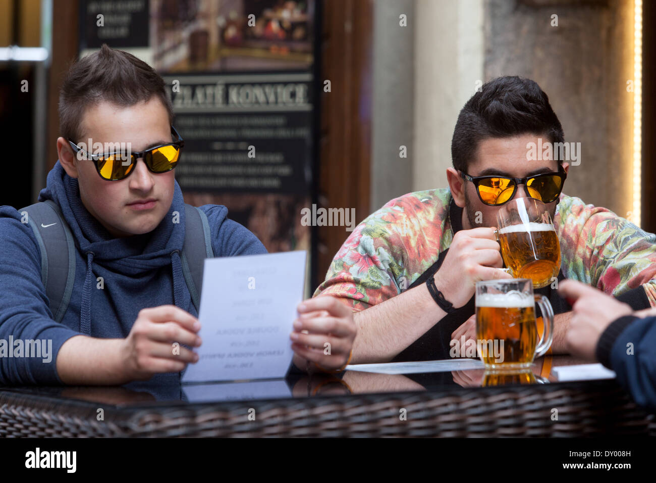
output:
{"label": "white paper menu sheet held by the man in the hoodie", "polygon": [[182,382],[285,377],[303,296],[305,251],[209,258],[198,319],[203,345]]}

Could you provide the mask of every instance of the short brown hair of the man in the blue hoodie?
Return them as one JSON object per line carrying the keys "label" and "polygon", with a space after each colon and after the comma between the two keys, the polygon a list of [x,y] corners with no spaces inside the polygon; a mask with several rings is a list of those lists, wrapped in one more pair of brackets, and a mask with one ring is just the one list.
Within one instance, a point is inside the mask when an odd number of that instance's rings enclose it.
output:
{"label": "short brown hair of the man in the blue hoodie", "polygon": [[101,101],[132,106],[153,96],[159,97],[169,114],[169,124],[173,124],[173,106],[161,76],[143,60],[104,43],[99,51],[73,63],[66,73],[59,93],[61,135],[77,143],[83,135],[85,110]]}

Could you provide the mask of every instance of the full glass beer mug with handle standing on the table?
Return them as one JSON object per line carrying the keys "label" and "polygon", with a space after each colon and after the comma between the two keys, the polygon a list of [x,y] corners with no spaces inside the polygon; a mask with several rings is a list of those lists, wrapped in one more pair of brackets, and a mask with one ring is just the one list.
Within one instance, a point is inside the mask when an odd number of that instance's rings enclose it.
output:
{"label": "full glass beer mug with handle standing on the table", "polygon": [[[535,304],[544,334],[537,343]],[[533,295],[528,279],[476,283],[476,348],[486,369],[523,369],[543,356],[554,337],[554,311],[544,295]]]}

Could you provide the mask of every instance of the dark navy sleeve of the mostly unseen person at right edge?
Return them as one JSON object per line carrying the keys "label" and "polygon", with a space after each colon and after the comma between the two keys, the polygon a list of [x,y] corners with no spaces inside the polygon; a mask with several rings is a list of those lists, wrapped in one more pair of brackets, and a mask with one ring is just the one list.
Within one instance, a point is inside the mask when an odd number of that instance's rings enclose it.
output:
{"label": "dark navy sleeve of the mostly unseen person at right edge", "polygon": [[606,327],[597,359],[615,371],[636,404],[656,412],[656,317],[627,315]]}

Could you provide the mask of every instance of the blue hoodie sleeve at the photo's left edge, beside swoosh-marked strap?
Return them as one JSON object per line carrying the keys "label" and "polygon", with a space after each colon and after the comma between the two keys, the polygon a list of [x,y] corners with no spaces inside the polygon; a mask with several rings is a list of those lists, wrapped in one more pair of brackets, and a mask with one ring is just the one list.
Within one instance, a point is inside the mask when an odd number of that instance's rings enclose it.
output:
{"label": "blue hoodie sleeve at the photo's left edge, beside swoosh-marked strap", "polygon": [[[0,207],[0,384],[62,384],[57,354],[80,333],[52,319],[41,281],[41,251],[31,227],[20,220],[11,206]],[[26,357],[28,344],[37,340],[41,357]],[[17,344],[21,357],[15,357]]]}

